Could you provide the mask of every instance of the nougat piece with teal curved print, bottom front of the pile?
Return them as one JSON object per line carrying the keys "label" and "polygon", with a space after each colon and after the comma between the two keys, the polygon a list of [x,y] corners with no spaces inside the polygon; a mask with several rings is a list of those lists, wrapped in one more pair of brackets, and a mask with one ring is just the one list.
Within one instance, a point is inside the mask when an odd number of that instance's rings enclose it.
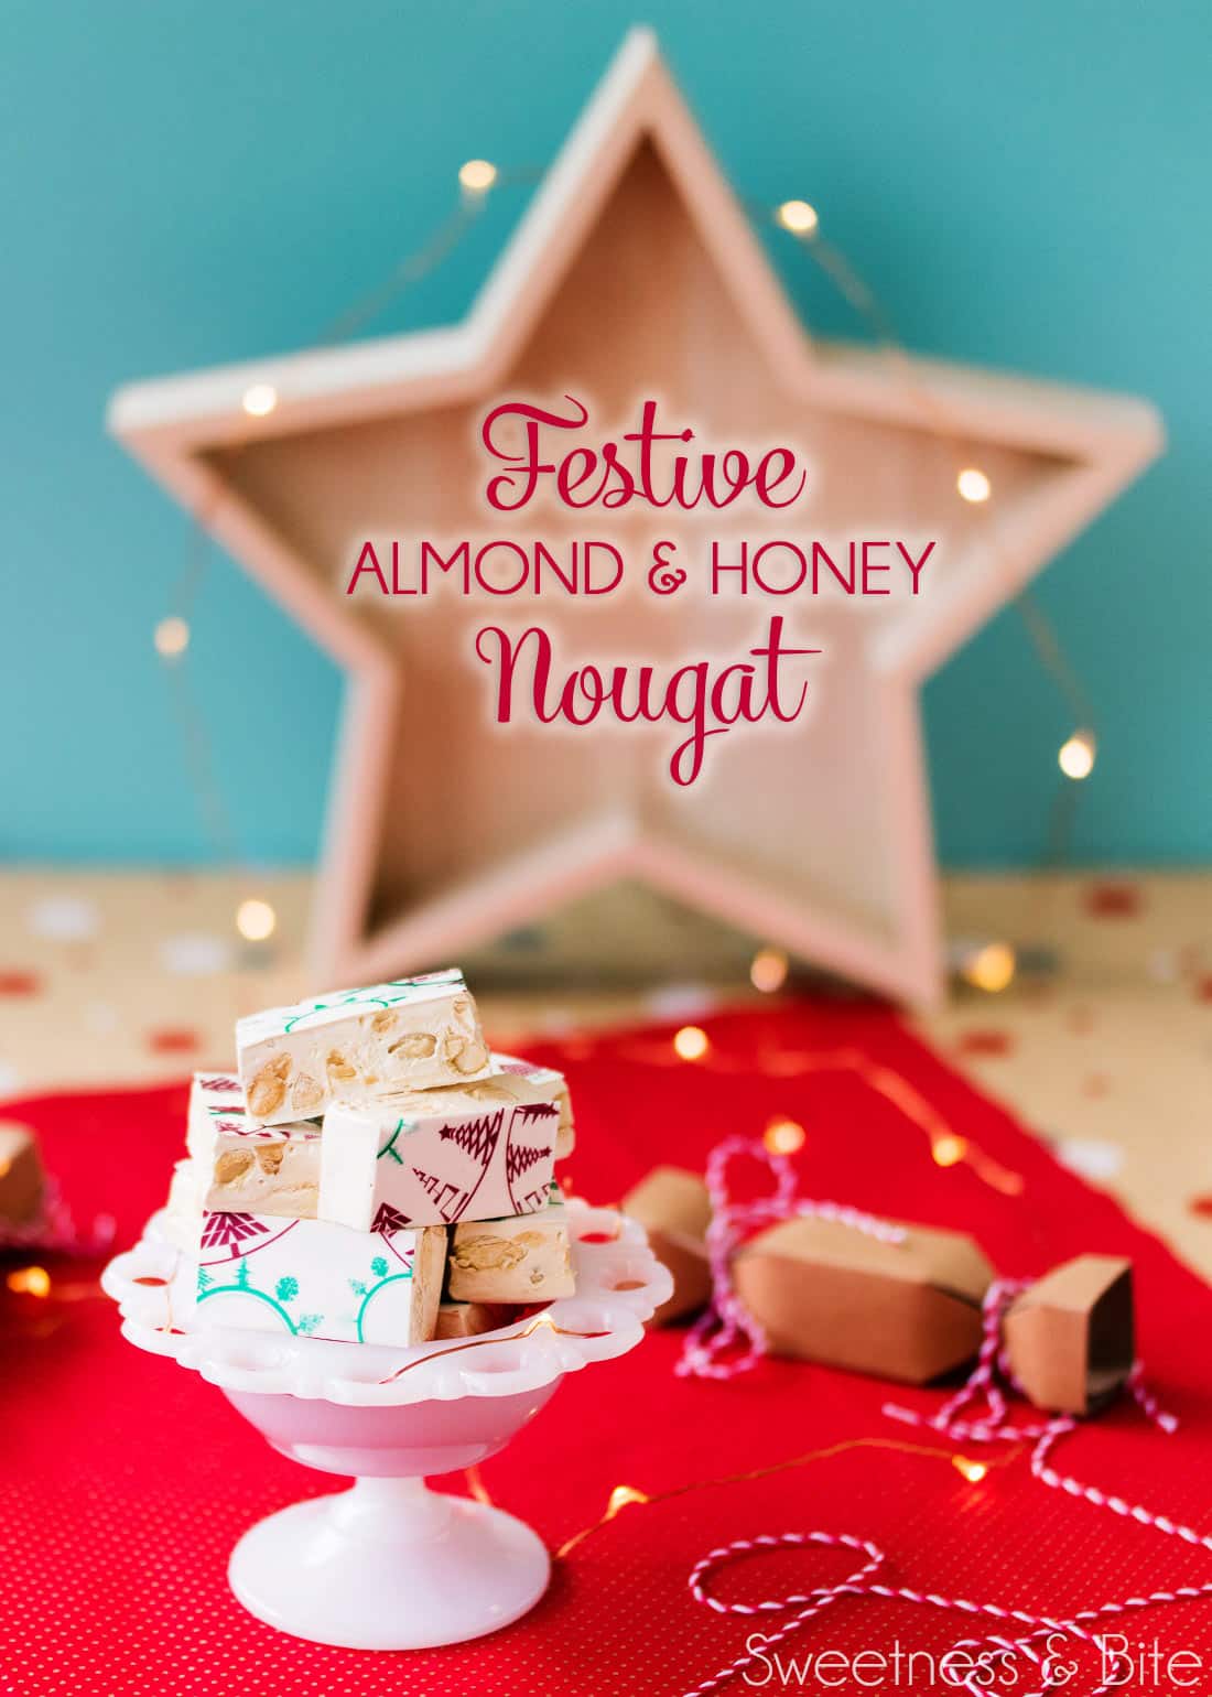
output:
{"label": "nougat piece with teal curved print, bottom front of the pile", "polygon": [[433,1337],[443,1227],[412,1230],[384,1210],[377,1230],[268,1213],[204,1213],[195,1324],[356,1344]]}

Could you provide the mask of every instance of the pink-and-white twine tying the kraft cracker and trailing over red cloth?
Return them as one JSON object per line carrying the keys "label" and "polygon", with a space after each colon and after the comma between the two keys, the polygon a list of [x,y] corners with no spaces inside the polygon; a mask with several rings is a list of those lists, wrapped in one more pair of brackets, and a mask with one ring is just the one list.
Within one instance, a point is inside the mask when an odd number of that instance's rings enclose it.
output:
{"label": "pink-and-white twine tying the kraft cracker and trailing over red cloth", "polygon": [[[759,1161],[766,1159],[769,1162],[776,1178],[774,1193],[771,1196],[755,1203],[730,1203],[727,1191],[727,1168],[728,1162],[738,1154],[747,1154],[757,1157]],[[854,1224],[859,1230],[871,1230],[873,1227],[879,1227],[881,1222],[873,1220],[869,1215],[854,1213],[854,1210],[798,1201],[794,1196],[794,1178],[789,1162],[779,1156],[767,1156],[760,1144],[752,1144],[740,1137],[728,1139],[711,1152],[711,1159],[708,1162],[708,1188],[711,1191],[711,1205],[715,1210],[713,1241],[708,1246],[711,1252],[713,1303],[708,1315],[704,1315],[691,1334],[682,1361],[679,1363],[679,1371],[699,1373],[711,1378],[732,1378],[733,1373],[752,1368],[766,1351],[762,1330],[757,1322],[745,1313],[735,1295],[727,1268],[730,1249],[735,1247],[737,1242],[743,1241],[747,1230],[757,1225],[772,1224],[779,1218],[791,1218],[793,1215],[810,1212],[827,1218],[847,1218],[849,1224]],[[721,1222],[718,1232],[715,1229],[716,1220]],[[884,1230],[891,1232],[895,1227],[884,1225]],[[1015,1424],[1010,1419],[1008,1400],[1003,1386],[1010,1386],[1012,1390],[1017,1390],[1018,1386],[1013,1381],[1013,1375],[1010,1373],[1008,1361],[1005,1359],[1002,1349],[1002,1319],[1007,1307],[1024,1288],[1025,1283],[1020,1280],[998,1280],[990,1288],[988,1297],[985,1298],[983,1339],[976,1366],[961,1390],[956,1392],[956,1395],[951,1397],[937,1414],[923,1415],[896,1403],[886,1403],[884,1414],[908,1425],[927,1427],[929,1431],[939,1432],[957,1442],[990,1444],[1007,1439],[1018,1442],[1024,1439],[1032,1441],[1034,1449],[1030,1454],[1030,1471],[1032,1476],[1042,1485],[1047,1485],[1051,1490],[1061,1490],[1069,1497],[1081,1497],[1095,1509],[1107,1509],[1124,1519],[1136,1521],[1139,1526],[1149,1526],[1170,1537],[1178,1537],[1187,1544],[1195,1544],[1202,1549],[1212,1551],[1212,1534],[1198,1532],[1190,1526],[1173,1521],[1170,1515],[1156,1514],[1141,1504],[1129,1504],[1119,1495],[1100,1490],[1097,1485],[1086,1485],[1071,1475],[1058,1471],[1058,1468],[1052,1466],[1051,1458],[1059,1441],[1078,1427],[1078,1420],[1071,1415],[1054,1415],[1029,1424]],[[716,1353],[735,1346],[738,1339],[745,1341],[745,1351],[742,1356],[723,1363],[715,1359]],[[1127,1388],[1139,1409],[1154,1425],[1166,1434],[1178,1429],[1176,1419],[1161,1409],[1153,1392],[1146,1386],[1141,1363],[1132,1368]],[[708,1580],[711,1575],[718,1573],[737,1556],[754,1554],[764,1549],[808,1546],[849,1549],[861,1554],[864,1561],[835,1585],[813,1587],[813,1590],[798,1592],[791,1597],[781,1597],[776,1600],[730,1604],[713,1597],[708,1590]],[[1058,1685],[1068,1682],[1064,1668],[1052,1668],[1058,1638],[1091,1643],[1097,1636],[1097,1624],[1110,1617],[1125,1616],[1136,1609],[1151,1609],[1163,1604],[1212,1597],[1210,1580],[1205,1585],[1180,1585],[1175,1590],[1154,1590],[1141,1597],[1114,1599],[1091,1609],[1080,1609],[1066,1619],[1052,1619],[1051,1616],[1029,1614],[1024,1609],[1005,1609],[1000,1604],[973,1602],[966,1597],[944,1597],[937,1592],[918,1592],[905,1585],[879,1583],[876,1575],[881,1571],[886,1560],[886,1553],[878,1544],[873,1544],[864,1537],[856,1537],[849,1532],[760,1532],[755,1537],[738,1537],[730,1544],[720,1544],[716,1549],[710,1549],[691,1570],[689,1588],[696,1602],[713,1609],[716,1614],[737,1614],[752,1619],[783,1616],[784,1619],[779,1626],[762,1633],[762,1656],[793,1633],[808,1626],[808,1622],[822,1614],[823,1609],[839,1602],[842,1597],[883,1597],[895,1599],[898,1602],[920,1604],[929,1609],[944,1609],[954,1614],[962,1614],[969,1619],[1005,1622],[1010,1633],[1013,1627],[1025,1627],[1027,1631],[1020,1631],[1015,1636],[990,1631],[983,1638],[966,1638],[952,1646],[952,1651],[968,1651],[969,1656],[973,1656],[973,1673],[962,1682],[962,1689],[968,1690],[971,1697],[988,1697],[988,1673],[981,1677],[981,1668],[995,1666],[996,1656],[1025,1656],[1039,1668],[1039,1692],[1054,1690]],[[735,1661],[720,1668],[710,1678],[703,1680],[691,1692],[687,1692],[686,1697],[706,1697],[708,1692],[718,1690],[728,1680],[735,1678],[737,1673],[752,1666],[757,1660],[759,1651],[747,1651]],[[1110,1689],[1110,1680],[1103,1682],[1095,1687],[1091,1697],[1105,1697]],[[1035,1694],[1030,1694],[1030,1697],[1035,1697]]]}

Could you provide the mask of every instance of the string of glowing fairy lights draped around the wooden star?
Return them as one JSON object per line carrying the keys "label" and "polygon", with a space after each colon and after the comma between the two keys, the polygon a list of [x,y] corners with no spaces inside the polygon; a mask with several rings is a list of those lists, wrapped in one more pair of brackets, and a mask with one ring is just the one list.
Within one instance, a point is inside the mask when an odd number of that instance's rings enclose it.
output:
{"label": "string of glowing fairy lights draped around the wooden star", "polygon": [[[406,288],[429,277],[450,258],[494,192],[511,185],[531,185],[540,175],[535,168],[506,171],[489,160],[467,160],[458,168],[460,195],[453,210],[419,248],[397,263],[390,277],[379,288],[334,319],[312,344],[328,346],[356,334]],[[888,312],[857,275],[845,255],[825,238],[816,207],[803,199],[783,200],[777,205],[755,202],[750,204],[750,214],[762,221],[772,221],[777,229],[789,236],[813,260],[864,321],[881,351],[901,367],[906,380],[912,384],[912,361],[891,326]],[[993,479],[971,456],[964,445],[949,433],[947,419],[940,414],[937,399],[920,394],[920,400],[923,412],[929,416],[930,428],[940,438],[954,443],[956,497],[971,507],[985,507],[990,502],[996,502]],[[272,417],[278,407],[275,385],[267,380],[251,382],[241,397],[241,407],[250,426]],[[255,429],[244,440],[256,440]],[[210,550],[209,526],[212,519],[214,511],[199,511],[194,514],[187,562],[173,591],[173,609],[154,626],[153,643],[165,669],[173,675],[173,701],[182,721],[187,769],[212,847],[221,864],[233,865],[238,869],[241,879],[251,882],[246,860],[238,848],[238,833],[221,786],[216,781],[205,721],[187,682],[187,655],[192,638],[190,614],[205,575]],[[1024,619],[1042,670],[1052,679],[1071,713],[1073,730],[1056,753],[1056,764],[1066,782],[1052,811],[1049,832],[1046,864],[1054,865],[1066,859],[1066,840],[1073,821],[1073,804],[1066,792],[1071,792],[1071,786],[1081,784],[1090,777],[1095,769],[1098,753],[1095,713],[1090,696],[1064,653],[1051,619],[1025,591],[1015,596],[1013,604]],[[273,905],[265,894],[256,891],[241,894],[233,920],[236,932],[251,944],[265,942],[277,928]],[[995,940],[966,949],[956,966],[961,977],[969,984],[996,993],[1013,981],[1018,961],[1012,944]],[[750,981],[755,989],[772,993],[783,986],[788,971],[786,952],[776,945],[766,945],[752,959]]]}

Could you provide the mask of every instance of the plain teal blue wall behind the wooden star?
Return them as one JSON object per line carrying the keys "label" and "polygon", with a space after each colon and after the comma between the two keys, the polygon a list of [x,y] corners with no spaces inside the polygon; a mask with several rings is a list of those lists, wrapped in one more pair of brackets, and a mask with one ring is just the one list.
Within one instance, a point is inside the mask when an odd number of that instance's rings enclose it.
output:
{"label": "plain teal blue wall behind the wooden star", "polygon": [[[7,857],[212,852],[151,648],[185,521],[104,436],[110,389],[306,343],[440,221],[462,160],[548,160],[637,19],[737,188],[810,199],[912,348],[1161,406],[1168,458],[1039,597],[1100,714],[1075,855],[1212,859],[1207,0],[5,0]],[[521,205],[375,329],[460,316]],[[854,334],[772,251],[810,326]],[[194,628],[243,850],[307,860],[339,677],[222,558]],[[947,862],[1041,855],[1068,730],[1002,614],[927,691]]]}

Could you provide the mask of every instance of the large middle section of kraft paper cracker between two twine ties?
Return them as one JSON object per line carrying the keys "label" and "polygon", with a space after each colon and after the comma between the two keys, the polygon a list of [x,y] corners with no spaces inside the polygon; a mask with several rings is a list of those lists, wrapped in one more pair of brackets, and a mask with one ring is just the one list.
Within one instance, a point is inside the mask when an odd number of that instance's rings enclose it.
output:
{"label": "large middle section of kraft paper cracker between two twine ties", "polygon": [[927,1385],[979,1351],[993,1269],[959,1232],[903,1232],[886,1242],[837,1220],[783,1220],[733,1257],[737,1295],[774,1354]]}

